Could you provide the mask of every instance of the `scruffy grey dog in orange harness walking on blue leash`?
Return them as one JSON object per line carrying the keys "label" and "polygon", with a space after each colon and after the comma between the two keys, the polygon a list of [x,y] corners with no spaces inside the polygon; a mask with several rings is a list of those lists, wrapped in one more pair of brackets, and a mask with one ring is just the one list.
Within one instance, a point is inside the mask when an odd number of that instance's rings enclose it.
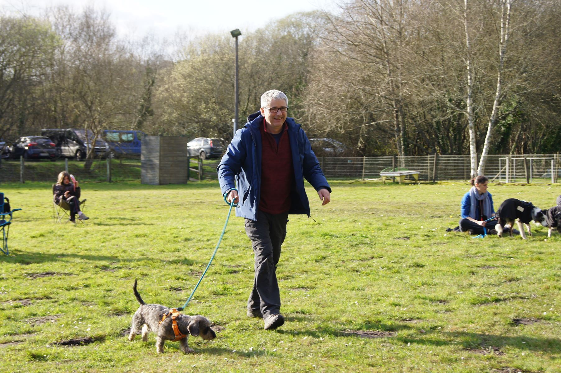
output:
{"label": "scruffy grey dog in orange harness walking on blue leash", "polygon": [[[165,340],[176,340],[176,335],[172,327],[172,316],[165,317],[165,320],[160,323],[164,314],[167,314],[171,308],[162,305],[147,305],[144,303],[140,294],[136,291],[136,280],[132,287],[135,293],[136,300],[139,301],[140,307],[132,316],[131,333],[128,335],[128,340],[135,339],[136,333],[142,328],[142,340],[148,340],[148,333],[153,331],[156,334],[156,352],[164,352]],[[214,330],[210,329],[210,321],[201,315],[188,316],[177,315],[177,325],[181,334],[185,337],[180,339],[181,351],[184,353],[194,352],[195,350],[187,346],[188,334],[196,337],[200,335],[205,340],[216,338]]]}

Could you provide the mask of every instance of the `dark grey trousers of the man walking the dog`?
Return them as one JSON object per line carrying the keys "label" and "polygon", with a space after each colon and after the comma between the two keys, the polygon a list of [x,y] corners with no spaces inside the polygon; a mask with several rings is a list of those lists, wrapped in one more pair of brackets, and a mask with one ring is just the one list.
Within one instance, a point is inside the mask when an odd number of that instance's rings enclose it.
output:
{"label": "dark grey trousers of the man walking the dog", "polygon": [[288,213],[268,214],[263,211],[257,211],[257,220],[245,219],[247,237],[255,254],[255,277],[247,308],[260,310],[263,317],[280,313],[276,271],[287,222]]}

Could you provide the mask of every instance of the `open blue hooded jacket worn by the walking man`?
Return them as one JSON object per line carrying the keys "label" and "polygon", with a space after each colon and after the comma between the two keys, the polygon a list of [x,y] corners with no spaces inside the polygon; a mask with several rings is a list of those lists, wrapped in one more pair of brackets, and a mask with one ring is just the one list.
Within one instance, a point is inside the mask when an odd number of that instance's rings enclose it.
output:
{"label": "open blue hooded jacket worn by the walking man", "polygon": [[[257,220],[261,187],[261,132],[263,124],[260,113],[247,117],[247,123],[236,132],[226,154],[217,167],[218,181],[222,195],[234,188],[234,178],[240,196],[236,216]],[[306,214],[310,216],[310,204],[304,189],[304,178],[319,191],[331,188],[325,179],[318,158],[312,151],[310,141],[300,125],[293,118],[286,119],[288,140],[292,153],[292,164],[296,182],[296,192],[291,196],[289,214]]]}

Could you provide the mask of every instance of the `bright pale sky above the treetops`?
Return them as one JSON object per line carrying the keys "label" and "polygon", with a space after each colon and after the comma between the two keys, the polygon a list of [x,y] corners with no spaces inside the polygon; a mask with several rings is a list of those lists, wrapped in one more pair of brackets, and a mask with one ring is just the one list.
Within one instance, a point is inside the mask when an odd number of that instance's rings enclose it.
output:
{"label": "bright pale sky above the treetops", "polygon": [[[142,38],[148,33],[172,39],[178,32],[228,33],[253,31],[289,14],[311,10],[334,10],[337,0],[0,0],[0,10],[39,15],[45,8],[64,4],[80,11],[94,6],[111,13],[117,34]],[[341,2],[341,0],[339,0]],[[243,37],[243,35],[242,35]]]}

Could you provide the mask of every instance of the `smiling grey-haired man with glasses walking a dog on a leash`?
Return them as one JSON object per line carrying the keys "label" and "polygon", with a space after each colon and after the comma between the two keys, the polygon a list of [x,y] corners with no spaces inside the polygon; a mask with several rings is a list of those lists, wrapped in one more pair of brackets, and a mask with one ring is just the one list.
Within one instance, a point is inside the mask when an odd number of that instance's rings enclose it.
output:
{"label": "smiling grey-haired man with glasses walking a dog on a leash", "polygon": [[276,270],[288,214],[310,216],[304,179],[318,192],[322,205],[331,199],[331,188],[306,133],[287,113],[287,96],[266,91],[260,111],[236,132],[217,168],[222,195],[240,205],[236,216],[245,218],[255,254],[247,316],[263,317],[265,329],[284,324]]}

